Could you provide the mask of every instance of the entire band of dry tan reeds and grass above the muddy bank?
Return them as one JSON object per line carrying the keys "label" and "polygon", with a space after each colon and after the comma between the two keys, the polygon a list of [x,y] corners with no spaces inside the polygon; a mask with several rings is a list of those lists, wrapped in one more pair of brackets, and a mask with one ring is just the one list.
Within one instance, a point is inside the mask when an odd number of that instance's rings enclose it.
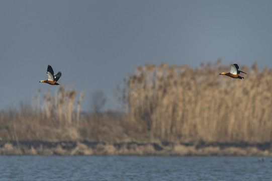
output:
{"label": "entire band of dry tan reeds and grass above the muddy bank", "polygon": [[[219,73],[229,65],[149,65],[135,68],[116,94],[123,112],[82,113],[75,89],[0,113],[4,141],[94,141],[171,143],[270,143],[272,69],[240,65],[244,79]],[[102,99],[105,101],[104,99]],[[98,110],[98,109],[96,109]]]}

